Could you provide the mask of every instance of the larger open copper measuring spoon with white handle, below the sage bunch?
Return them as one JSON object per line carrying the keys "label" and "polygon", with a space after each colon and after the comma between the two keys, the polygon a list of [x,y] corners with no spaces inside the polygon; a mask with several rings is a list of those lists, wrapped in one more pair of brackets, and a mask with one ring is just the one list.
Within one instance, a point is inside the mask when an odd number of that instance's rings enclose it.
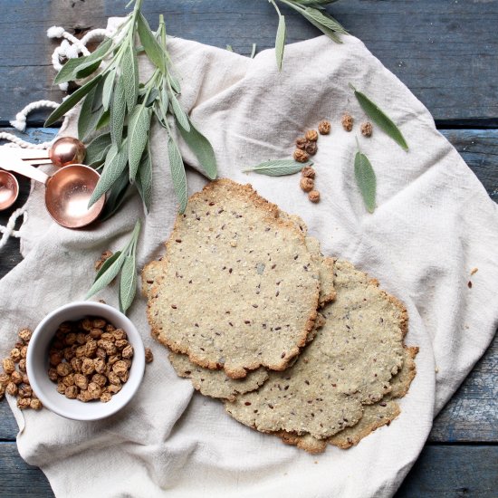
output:
{"label": "larger open copper measuring spoon with white handle, below the sage bunch", "polygon": [[[66,228],[90,225],[101,214],[105,196],[88,209],[88,201],[101,177],[95,169],[72,164],[58,169],[52,176],[22,159],[2,155],[2,168],[32,178],[45,185],[45,206],[53,221]],[[15,199],[14,199],[15,200]]]}

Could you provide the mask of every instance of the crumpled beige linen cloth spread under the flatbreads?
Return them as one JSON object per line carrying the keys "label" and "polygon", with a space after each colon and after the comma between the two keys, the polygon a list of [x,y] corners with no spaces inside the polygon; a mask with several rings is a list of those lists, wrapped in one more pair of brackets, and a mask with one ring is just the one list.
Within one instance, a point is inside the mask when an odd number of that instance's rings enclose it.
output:
{"label": "crumpled beige linen cloth spread under the flatbreads", "polygon": [[[418,345],[420,353],[401,415],[347,451],[330,446],[323,455],[308,455],[283,445],[235,422],[221,403],[177,378],[167,351],[149,336],[146,302],[138,295],[129,317],[155,360],[128,407],[88,423],[47,409],[20,412],[9,401],[20,426],[20,454],[43,469],[57,496],[391,496],[417,459],[433,417],[484,353],[498,321],[497,206],[407,87],[358,39],[343,41],[321,36],[287,46],[281,73],[273,50],[251,60],[181,39],[171,39],[169,49],[182,76],[182,104],[211,140],[219,176],[250,182],[301,215],[324,254],[349,259],[406,303],[407,344]],[[359,137],[378,178],[373,215],[354,180],[355,136],[366,118],[349,82],[388,110],[410,147],[404,152],[375,127],[371,139]],[[350,133],[340,126],[345,111],[355,118]],[[242,172],[290,157],[293,140],[324,118],[332,130],[319,139],[314,158],[320,204],[302,193],[298,175]],[[152,135],[154,198],[139,239],[139,269],[162,254],[177,212],[166,136],[158,127]],[[194,167],[187,175],[193,193],[206,180],[186,147],[182,153]],[[24,261],[0,281],[2,355],[20,327],[34,328],[57,306],[81,300],[101,251],[119,249],[141,216],[134,196],[109,221],[66,230],[46,214],[40,185],[27,207]],[[479,271],[471,278],[474,267]],[[117,305],[116,291],[110,287],[96,298]]]}

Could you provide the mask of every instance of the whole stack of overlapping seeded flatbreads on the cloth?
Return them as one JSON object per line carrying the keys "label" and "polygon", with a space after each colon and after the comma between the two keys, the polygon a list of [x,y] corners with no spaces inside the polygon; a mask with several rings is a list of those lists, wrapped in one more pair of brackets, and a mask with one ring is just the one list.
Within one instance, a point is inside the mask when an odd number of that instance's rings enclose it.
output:
{"label": "whole stack of overlapping seeded flatbreads on the cloth", "polygon": [[191,196],[142,282],[178,376],[311,453],[388,424],[415,377],[403,304],[324,257],[301,218],[249,185],[222,179]]}

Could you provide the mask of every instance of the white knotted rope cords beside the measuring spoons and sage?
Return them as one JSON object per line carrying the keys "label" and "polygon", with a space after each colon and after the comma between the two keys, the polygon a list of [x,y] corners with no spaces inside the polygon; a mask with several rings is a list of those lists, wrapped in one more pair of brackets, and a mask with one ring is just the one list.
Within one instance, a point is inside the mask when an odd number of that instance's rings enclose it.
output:
{"label": "white knotted rope cords beside the measuring spoons and sage", "polygon": [[[99,40],[103,38],[104,36],[110,36],[112,33],[108,32],[105,29],[94,29],[85,34],[81,40],[78,40],[75,36],[73,36],[71,33],[68,33],[67,31],[64,30],[64,28],[60,26],[53,26],[48,29],[47,31],[47,36],[49,38],[62,38],[61,44],[55,48],[52,54],[52,63],[53,63],[53,68],[55,71],[59,72],[62,68],[62,62],[65,60],[69,59],[75,59],[76,57],[80,56],[80,53],[82,55],[90,55],[90,51],[86,48],[86,45],[88,43],[93,42],[94,40]],[[59,85],[59,88],[62,91],[67,91],[68,89],[68,84],[67,83],[61,83]],[[33,112],[34,110],[39,110],[39,109],[56,109],[59,107],[60,104],[57,102],[53,101],[35,101],[30,104],[28,104],[26,107],[24,107],[23,110],[19,111],[15,115],[15,120],[10,121],[10,124],[15,128],[18,129],[19,131],[23,131],[26,129],[26,120],[27,116],[30,112]],[[62,122],[62,127],[59,130],[59,134],[64,131],[64,129],[67,128],[68,125],[68,118],[72,115],[74,110],[70,111],[69,113],[66,114],[63,122]],[[53,144],[53,140],[50,140],[48,142],[43,142],[39,144],[34,144],[31,142],[28,142],[24,139],[20,139],[19,137],[15,136],[13,133],[8,133],[6,131],[1,131],[0,132],[0,141],[1,140],[6,140],[9,142],[7,147],[20,147],[20,148],[36,148],[36,149],[44,149],[44,148],[49,148]],[[1,166],[1,165],[0,165]],[[2,238],[0,239],[0,250],[7,244],[7,241],[9,240],[10,237],[16,237],[19,238],[19,230],[15,229],[15,224],[17,223],[17,220],[23,216],[23,222],[22,224],[26,221],[26,210],[23,207],[20,207],[14,211],[14,213],[10,216],[9,221],[7,222],[7,225],[3,226],[0,225],[0,234],[2,234]],[[22,225],[21,224],[21,225]]]}

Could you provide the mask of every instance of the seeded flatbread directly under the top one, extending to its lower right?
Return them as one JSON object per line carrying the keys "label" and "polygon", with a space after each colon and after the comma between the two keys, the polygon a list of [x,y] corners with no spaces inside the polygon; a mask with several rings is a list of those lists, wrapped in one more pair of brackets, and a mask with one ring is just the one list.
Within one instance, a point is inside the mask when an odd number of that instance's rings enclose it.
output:
{"label": "seeded flatbread directly under the top one, extending to its lower right", "polygon": [[351,263],[335,263],[336,301],[324,327],[295,364],[244,394],[226,411],[261,432],[286,431],[326,439],[355,426],[364,405],[391,390],[403,364],[407,311]]}

